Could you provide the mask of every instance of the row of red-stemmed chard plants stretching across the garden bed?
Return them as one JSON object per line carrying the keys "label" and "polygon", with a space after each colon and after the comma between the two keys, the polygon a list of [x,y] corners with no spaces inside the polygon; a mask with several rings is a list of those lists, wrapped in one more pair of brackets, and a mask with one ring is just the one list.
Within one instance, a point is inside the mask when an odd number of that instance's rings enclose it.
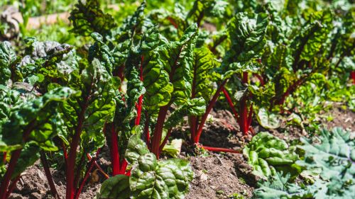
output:
{"label": "row of red-stemmed chard plants stretching across the garden bed", "polygon": [[[273,127],[271,114],[289,114],[285,102],[297,88],[354,63],[354,7],[238,5],[199,0],[190,10],[176,4],[172,12],[147,12],[143,1],[118,25],[99,1],[79,1],[70,13],[71,31],[91,44],[26,38],[25,49],[16,53],[10,42],[1,42],[0,198],[9,197],[38,159],[58,196],[48,153],[62,154],[67,199],[80,197],[94,168],[108,178],[97,198],[184,198],[193,178],[189,162],[159,159],[184,119],[192,147],[241,153],[200,144],[217,101],[229,106],[244,135],[254,135],[253,118]],[[288,149],[276,141],[266,146]],[[254,142],[244,149],[251,165],[297,159],[287,152],[284,159],[256,163]],[[104,144],[110,174],[97,164]],[[263,165],[253,168],[271,175]]]}

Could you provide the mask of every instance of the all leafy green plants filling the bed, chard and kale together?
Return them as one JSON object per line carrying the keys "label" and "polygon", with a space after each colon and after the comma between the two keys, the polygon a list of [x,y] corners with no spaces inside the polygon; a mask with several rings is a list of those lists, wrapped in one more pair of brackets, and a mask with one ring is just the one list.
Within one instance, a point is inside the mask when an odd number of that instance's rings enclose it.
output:
{"label": "all leafy green plants filling the bed, chard and kale together", "polygon": [[[0,198],[40,150],[60,154],[58,149],[69,154],[67,198],[79,197],[94,162],[85,157],[105,141],[113,177],[97,198],[183,198],[191,168],[180,159],[158,161],[160,152],[178,153],[164,145],[185,116],[191,140],[198,142],[221,92],[236,107],[244,134],[252,130],[255,110],[262,127],[275,129],[278,115],[300,127],[317,125],[307,120],[317,120],[325,101],[354,109],[355,87],[348,78],[355,70],[355,15],[345,0],[149,0],[114,8],[80,0],[70,13],[72,35],[63,23],[26,31],[28,16],[66,11],[69,1],[45,1],[45,11],[36,1],[23,2],[18,6],[25,22],[11,41],[16,46],[0,43]],[[219,104],[214,108],[224,108]],[[253,173],[269,178],[259,184],[256,198],[354,195],[354,144],[335,131],[322,132],[320,143],[304,139],[298,166],[294,147],[258,133],[244,148]],[[13,166],[9,159],[18,162]],[[6,169],[13,169],[10,177]],[[293,173],[302,169],[321,170],[312,186],[293,183]]]}

